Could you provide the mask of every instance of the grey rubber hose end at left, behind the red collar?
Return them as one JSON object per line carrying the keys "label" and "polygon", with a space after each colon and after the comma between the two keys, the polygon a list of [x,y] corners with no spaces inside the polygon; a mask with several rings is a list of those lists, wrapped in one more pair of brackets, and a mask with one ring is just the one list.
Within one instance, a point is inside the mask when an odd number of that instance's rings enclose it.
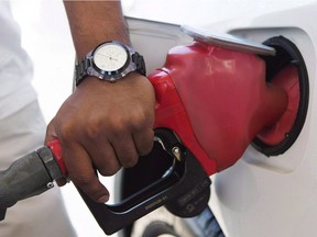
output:
{"label": "grey rubber hose end at left, behind the red collar", "polygon": [[0,171],[0,221],[8,207],[50,190],[54,187],[53,181],[63,177],[51,149],[41,147]]}

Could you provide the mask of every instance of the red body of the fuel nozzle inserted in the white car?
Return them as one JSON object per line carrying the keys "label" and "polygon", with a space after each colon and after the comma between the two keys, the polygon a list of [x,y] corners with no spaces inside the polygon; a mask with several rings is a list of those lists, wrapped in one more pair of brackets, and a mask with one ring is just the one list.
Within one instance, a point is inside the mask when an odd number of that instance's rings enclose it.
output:
{"label": "red body of the fuel nozzle inserted in the white car", "polygon": [[208,174],[233,165],[287,105],[260,57],[201,42],[173,48],[150,80],[155,126],[174,131]]}

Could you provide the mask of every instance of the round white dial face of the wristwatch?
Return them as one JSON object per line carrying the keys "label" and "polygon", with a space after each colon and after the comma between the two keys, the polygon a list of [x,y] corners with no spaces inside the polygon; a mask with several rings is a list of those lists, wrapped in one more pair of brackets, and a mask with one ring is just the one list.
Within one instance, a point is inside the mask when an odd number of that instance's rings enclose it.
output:
{"label": "round white dial face of the wristwatch", "polygon": [[105,71],[116,71],[122,68],[128,60],[125,49],[117,44],[103,45],[94,54],[95,65]]}

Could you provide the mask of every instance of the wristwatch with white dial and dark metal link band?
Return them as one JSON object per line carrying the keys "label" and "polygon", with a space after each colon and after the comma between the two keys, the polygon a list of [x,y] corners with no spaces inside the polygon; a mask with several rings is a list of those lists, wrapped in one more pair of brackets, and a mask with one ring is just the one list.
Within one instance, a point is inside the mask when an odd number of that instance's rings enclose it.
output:
{"label": "wristwatch with white dial and dark metal link band", "polygon": [[110,41],[98,45],[76,64],[75,82],[78,86],[87,76],[114,82],[131,71],[145,76],[142,55],[120,42]]}

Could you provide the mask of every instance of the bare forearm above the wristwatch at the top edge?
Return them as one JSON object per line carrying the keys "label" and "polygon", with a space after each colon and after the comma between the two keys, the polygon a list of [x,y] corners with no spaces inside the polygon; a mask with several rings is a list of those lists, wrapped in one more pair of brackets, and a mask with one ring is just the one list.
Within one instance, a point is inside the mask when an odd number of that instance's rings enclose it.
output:
{"label": "bare forearm above the wristwatch at the top edge", "polygon": [[64,5],[78,58],[106,41],[130,44],[120,0],[64,0]]}

